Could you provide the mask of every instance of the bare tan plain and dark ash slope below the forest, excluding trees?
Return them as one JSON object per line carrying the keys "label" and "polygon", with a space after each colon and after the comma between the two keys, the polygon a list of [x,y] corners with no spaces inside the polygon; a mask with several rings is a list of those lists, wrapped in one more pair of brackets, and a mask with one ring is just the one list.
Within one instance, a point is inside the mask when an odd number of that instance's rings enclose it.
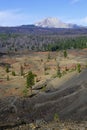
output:
{"label": "bare tan plain and dark ash slope below the forest, excluding trees", "polygon": [[[41,54],[40,57],[36,54],[33,54],[34,59],[31,55],[9,60],[2,58],[3,62],[12,65],[11,69],[14,69],[17,75],[13,77],[10,72],[11,79],[6,81],[5,70],[2,67],[0,69],[1,77],[3,76],[0,79],[0,128],[4,129],[8,126],[31,123],[41,119],[50,122],[54,119],[55,114],[62,121],[87,121],[87,69],[80,74],[72,72],[60,79],[52,78],[56,72],[56,61],[51,59],[47,62],[47,65],[50,65],[49,75],[44,75],[43,65],[46,62],[47,54],[45,56]],[[44,62],[41,62],[43,57]],[[62,58],[60,63],[67,65],[71,61],[72,63],[78,63],[78,61],[85,63],[87,60],[86,58],[83,61],[83,55],[77,58],[74,55],[71,57],[72,60],[70,56],[68,59]],[[57,60],[59,61],[59,59]],[[39,75],[38,78],[41,77],[41,83],[43,81],[46,86],[44,91],[40,87],[39,89],[33,88],[35,93],[32,96],[23,97],[21,95],[25,79],[20,76],[19,65],[24,63],[26,63],[25,73],[30,68]],[[36,86],[38,87],[38,83]]]}

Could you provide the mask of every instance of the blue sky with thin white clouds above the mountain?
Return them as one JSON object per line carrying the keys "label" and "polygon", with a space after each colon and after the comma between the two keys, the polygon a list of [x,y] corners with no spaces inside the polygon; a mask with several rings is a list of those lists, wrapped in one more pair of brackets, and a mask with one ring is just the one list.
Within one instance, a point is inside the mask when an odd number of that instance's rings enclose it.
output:
{"label": "blue sky with thin white clouds above the mountain", "polygon": [[87,0],[0,0],[0,26],[34,24],[47,17],[87,26]]}

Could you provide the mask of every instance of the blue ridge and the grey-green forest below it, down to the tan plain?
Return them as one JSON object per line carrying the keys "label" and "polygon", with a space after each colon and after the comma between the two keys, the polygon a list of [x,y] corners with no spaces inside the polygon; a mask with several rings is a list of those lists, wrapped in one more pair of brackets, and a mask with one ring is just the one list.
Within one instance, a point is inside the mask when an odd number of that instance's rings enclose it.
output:
{"label": "blue ridge and the grey-green forest below it, down to the tan plain", "polygon": [[0,51],[56,51],[87,47],[87,29],[49,29],[31,26],[1,27]]}

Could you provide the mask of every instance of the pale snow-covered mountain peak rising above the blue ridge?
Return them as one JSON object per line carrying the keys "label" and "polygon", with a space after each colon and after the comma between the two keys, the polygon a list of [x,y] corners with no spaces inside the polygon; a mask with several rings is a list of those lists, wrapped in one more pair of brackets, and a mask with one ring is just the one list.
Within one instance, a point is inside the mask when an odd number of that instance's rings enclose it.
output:
{"label": "pale snow-covered mountain peak rising above the blue ridge", "polygon": [[64,23],[61,20],[52,17],[43,19],[42,21],[37,22],[34,25],[38,27],[44,27],[44,28],[79,28],[80,27],[76,24]]}

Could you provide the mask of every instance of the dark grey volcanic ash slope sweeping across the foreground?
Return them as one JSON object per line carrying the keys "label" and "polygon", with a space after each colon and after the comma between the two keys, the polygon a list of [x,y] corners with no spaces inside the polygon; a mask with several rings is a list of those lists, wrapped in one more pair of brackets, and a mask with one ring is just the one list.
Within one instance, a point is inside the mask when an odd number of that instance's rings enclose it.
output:
{"label": "dark grey volcanic ash slope sweeping across the foreground", "polygon": [[32,98],[8,97],[0,100],[0,125],[51,121],[55,113],[61,120],[87,120],[87,70],[53,92]]}

